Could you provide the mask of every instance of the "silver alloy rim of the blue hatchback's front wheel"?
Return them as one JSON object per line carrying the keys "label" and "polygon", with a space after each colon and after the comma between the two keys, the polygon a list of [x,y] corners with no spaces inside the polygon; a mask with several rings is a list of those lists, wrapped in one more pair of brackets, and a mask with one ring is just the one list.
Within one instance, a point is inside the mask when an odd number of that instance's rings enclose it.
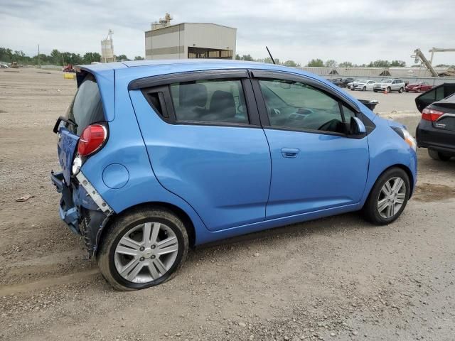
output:
{"label": "silver alloy rim of the blue hatchback's front wheel", "polygon": [[378,212],[381,217],[390,219],[400,211],[406,198],[406,183],[402,178],[387,180],[378,197]]}

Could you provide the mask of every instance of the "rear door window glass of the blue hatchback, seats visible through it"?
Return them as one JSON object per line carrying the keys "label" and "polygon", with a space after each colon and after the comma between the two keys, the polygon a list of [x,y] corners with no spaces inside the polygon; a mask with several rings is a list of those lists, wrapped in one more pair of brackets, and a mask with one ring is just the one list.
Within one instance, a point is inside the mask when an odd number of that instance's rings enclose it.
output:
{"label": "rear door window glass of the blue hatchback, seats visible through it", "polygon": [[197,80],[171,84],[177,121],[248,124],[240,80]]}

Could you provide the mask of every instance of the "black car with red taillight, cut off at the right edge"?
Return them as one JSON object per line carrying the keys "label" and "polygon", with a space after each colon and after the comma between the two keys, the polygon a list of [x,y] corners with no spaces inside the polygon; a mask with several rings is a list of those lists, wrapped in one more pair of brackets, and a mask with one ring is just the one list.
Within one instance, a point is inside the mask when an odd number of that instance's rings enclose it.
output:
{"label": "black car with red taillight, cut off at the right edge", "polygon": [[455,83],[434,87],[415,99],[422,119],[416,130],[417,146],[428,148],[434,160],[455,156]]}

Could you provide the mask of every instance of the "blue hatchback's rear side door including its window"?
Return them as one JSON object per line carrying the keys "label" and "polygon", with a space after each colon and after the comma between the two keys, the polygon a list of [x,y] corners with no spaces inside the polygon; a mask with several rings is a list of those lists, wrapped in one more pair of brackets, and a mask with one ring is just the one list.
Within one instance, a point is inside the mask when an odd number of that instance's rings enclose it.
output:
{"label": "blue hatchback's rear side door including its window", "polygon": [[246,70],[161,78],[130,87],[156,178],[212,231],[263,221],[270,153]]}

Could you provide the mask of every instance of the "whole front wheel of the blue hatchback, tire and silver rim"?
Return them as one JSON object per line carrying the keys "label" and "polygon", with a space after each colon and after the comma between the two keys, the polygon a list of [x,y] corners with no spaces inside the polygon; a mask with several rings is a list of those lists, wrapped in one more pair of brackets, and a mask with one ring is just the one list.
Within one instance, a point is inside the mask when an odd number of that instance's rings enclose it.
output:
{"label": "whole front wheel of the blue hatchback, tire and silver rim", "polygon": [[401,168],[390,168],[376,180],[363,206],[363,214],[373,224],[390,224],[405,210],[409,197],[407,173]]}

